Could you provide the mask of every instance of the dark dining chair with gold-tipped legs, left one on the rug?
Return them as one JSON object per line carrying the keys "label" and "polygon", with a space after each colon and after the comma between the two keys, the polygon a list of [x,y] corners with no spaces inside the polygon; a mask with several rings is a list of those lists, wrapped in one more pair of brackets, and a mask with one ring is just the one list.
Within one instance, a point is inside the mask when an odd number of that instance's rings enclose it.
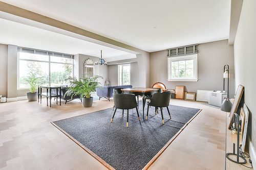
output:
{"label": "dark dining chair with gold-tipped legs, left one on the rug", "polygon": [[113,121],[113,118],[115,116],[116,110],[117,109],[122,109],[122,110],[127,110],[127,124],[126,126],[128,127],[128,120],[129,120],[129,109],[133,109],[136,108],[139,120],[140,120],[140,116],[139,116],[139,112],[138,112],[138,108],[137,108],[137,102],[136,102],[136,97],[134,94],[113,94],[113,99],[114,99],[114,105],[115,105],[115,111],[113,114],[113,117],[111,119],[111,123]]}

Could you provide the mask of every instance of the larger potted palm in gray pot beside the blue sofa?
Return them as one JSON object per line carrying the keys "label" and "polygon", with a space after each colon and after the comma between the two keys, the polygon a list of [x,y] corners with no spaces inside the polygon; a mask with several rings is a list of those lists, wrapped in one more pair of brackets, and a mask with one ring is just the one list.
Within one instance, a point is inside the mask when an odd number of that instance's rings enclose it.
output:
{"label": "larger potted palm in gray pot beside the blue sofa", "polygon": [[86,77],[77,79],[76,77],[69,76],[66,81],[69,83],[69,87],[65,95],[79,95],[82,99],[83,107],[92,107],[93,97],[91,97],[91,92],[96,91],[99,87],[99,79],[103,79],[101,76]]}

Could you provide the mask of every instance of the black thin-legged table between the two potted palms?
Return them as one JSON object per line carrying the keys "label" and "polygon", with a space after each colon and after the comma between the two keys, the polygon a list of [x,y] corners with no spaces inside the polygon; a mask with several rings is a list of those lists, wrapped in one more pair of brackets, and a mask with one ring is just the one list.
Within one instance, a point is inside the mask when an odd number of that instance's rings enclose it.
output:
{"label": "black thin-legged table between the two potted palms", "polygon": [[[46,89],[46,93],[42,93],[42,88]],[[52,89],[55,93],[53,93]],[[40,103],[42,103],[42,96],[46,96],[47,98],[47,106],[48,106],[48,98],[50,98],[50,107],[52,107],[52,98],[56,98],[56,104],[58,104],[59,98],[59,106],[61,105],[61,93],[60,93],[61,86],[38,86],[38,102],[40,97]]]}

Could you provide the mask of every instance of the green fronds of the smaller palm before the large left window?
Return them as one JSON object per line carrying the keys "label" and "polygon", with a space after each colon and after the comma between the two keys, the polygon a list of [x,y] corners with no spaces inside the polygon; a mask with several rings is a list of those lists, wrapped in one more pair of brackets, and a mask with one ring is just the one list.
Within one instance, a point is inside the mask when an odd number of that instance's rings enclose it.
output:
{"label": "green fronds of the smaller palm before the large left window", "polygon": [[35,92],[38,86],[48,83],[48,81],[44,80],[42,77],[36,77],[36,75],[33,74],[32,72],[31,72],[31,76],[25,78],[24,82],[28,84],[28,86],[30,87],[30,91],[32,93]]}

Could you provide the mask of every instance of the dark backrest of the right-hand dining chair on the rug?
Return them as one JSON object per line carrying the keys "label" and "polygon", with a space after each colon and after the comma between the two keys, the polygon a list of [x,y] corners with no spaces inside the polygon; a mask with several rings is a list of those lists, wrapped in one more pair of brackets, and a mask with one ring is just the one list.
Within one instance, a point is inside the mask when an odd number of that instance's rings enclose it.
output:
{"label": "dark backrest of the right-hand dining chair on the rug", "polygon": [[150,106],[155,107],[167,107],[170,103],[170,91],[165,91],[162,93],[154,93],[152,95]]}

